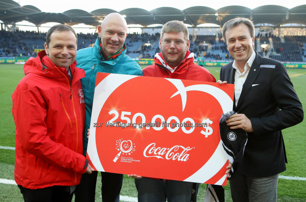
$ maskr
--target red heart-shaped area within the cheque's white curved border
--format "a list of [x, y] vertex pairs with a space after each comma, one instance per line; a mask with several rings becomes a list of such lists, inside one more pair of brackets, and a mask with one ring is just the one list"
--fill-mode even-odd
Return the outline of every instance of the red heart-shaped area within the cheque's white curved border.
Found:
[[[185, 87], [203, 84], [181, 81]], [[186, 92], [184, 106], [184, 96], [173, 96], [176, 92], [177, 87], [169, 80], [160, 78], [156, 82], [155, 78], [149, 77], [132, 78], [115, 88], [98, 116], [97, 123], [103, 123], [103, 126], [95, 128], [97, 153], [105, 171], [185, 180], [210, 159], [220, 142], [219, 130], [212, 131], [212, 128], [218, 128], [222, 107], [214, 96], [196, 90]], [[141, 122], [167, 120], [170, 127], [156, 130], [127, 124], [107, 125], [109, 121], [136, 122], [138, 126]], [[185, 120], [188, 124], [206, 121], [208, 126], [171, 127], [176, 120]], [[114, 162], [121, 146], [122, 153]]]

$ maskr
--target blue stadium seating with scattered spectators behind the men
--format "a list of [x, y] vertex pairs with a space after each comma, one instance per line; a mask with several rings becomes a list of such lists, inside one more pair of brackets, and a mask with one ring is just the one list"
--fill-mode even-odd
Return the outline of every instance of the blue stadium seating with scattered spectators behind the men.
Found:
[[[92, 46], [98, 34], [78, 34], [78, 49]], [[160, 52], [159, 33], [155, 34], [128, 34], [125, 44], [127, 45], [127, 55], [131, 58], [154, 58]], [[260, 44], [270, 44], [273, 42], [273, 54], [268, 54], [272, 59], [283, 62], [303, 62], [306, 61], [306, 37], [305, 36], [285, 36], [282, 40], [272, 35], [257, 36]], [[204, 60], [233, 60], [229, 55], [227, 46], [222, 41], [221, 34], [216, 35], [190, 35], [190, 51], [195, 53], [195, 58], [200, 54]], [[270, 39], [271, 38], [271, 39]], [[45, 33], [30, 31], [0, 31], [0, 56], [12, 57], [36, 56], [34, 49], [44, 49], [46, 40]], [[148, 46], [145, 44], [149, 44]], [[269, 51], [270, 52], [270, 51]], [[262, 52], [259, 54], [266, 56]]]

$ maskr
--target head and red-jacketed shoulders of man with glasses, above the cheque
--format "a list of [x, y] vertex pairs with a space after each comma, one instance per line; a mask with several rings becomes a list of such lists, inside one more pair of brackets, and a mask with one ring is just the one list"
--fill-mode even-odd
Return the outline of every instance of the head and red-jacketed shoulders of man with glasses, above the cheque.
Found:
[[160, 53], [154, 62], [143, 69], [144, 76], [216, 82], [209, 71], [194, 63], [189, 51], [190, 41], [184, 23], [173, 20], [162, 27], [159, 39]]

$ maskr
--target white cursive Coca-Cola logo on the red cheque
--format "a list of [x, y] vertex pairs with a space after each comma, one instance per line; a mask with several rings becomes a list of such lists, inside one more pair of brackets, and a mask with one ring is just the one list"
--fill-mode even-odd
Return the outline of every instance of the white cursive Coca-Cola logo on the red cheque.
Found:
[[187, 161], [189, 159], [189, 154], [187, 153], [192, 148], [175, 145], [171, 148], [157, 147], [155, 142], [149, 144], [144, 149], [144, 157], [156, 157], [167, 160], [177, 160], [177, 161]]

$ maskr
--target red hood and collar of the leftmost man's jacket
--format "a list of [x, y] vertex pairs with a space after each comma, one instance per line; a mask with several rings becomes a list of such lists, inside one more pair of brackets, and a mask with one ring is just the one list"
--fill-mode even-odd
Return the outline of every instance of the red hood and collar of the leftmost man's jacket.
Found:
[[[43, 61], [43, 64], [42, 64]], [[65, 75], [69, 78], [67, 70], [64, 67], [57, 67], [47, 56], [46, 51], [42, 50], [37, 54], [37, 57], [30, 57], [24, 64], [24, 74], [29, 73], [38, 74], [43, 77], [50, 78], [62, 78]], [[82, 69], [76, 67], [76, 61], [70, 65], [73, 80], [80, 80], [80, 78], [85, 77], [85, 72]]]

